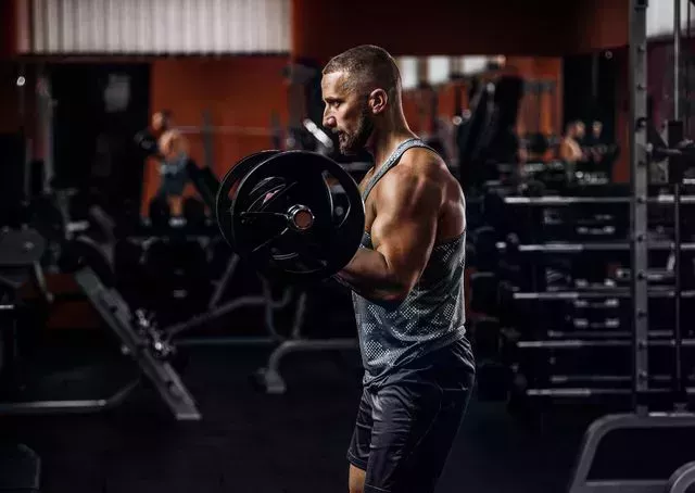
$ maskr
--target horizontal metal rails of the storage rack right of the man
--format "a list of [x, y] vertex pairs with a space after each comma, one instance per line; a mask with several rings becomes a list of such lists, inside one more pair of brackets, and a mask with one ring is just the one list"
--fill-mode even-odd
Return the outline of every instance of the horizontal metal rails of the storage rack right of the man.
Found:
[[[673, 195], [659, 195], [648, 198], [645, 202], [658, 203], [658, 204], [673, 204]], [[695, 203], [695, 197], [683, 198], [684, 203]], [[630, 204], [630, 198], [628, 197], [508, 197], [505, 198], [507, 206], [529, 206], [529, 207], [563, 207], [569, 205], [581, 206], [583, 204]], [[646, 222], [645, 222], [646, 223]], [[646, 228], [645, 228], [646, 230]], [[681, 249], [674, 249], [671, 241], [644, 241], [641, 242], [644, 245], [647, 253], [653, 251], [673, 252], [677, 251], [695, 251], [695, 243], [681, 244]], [[569, 243], [569, 242], [552, 242], [543, 244], [507, 244], [504, 242], [497, 243], [497, 250], [501, 252], [513, 251], [517, 256], [543, 256], [546, 254], [558, 255], [574, 255], [583, 253], [628, 253], [631, 250], [631, 243], [629, 241], [593, 241], [586, 243]], [[680, 253], [680, 252], [679, 252]], [[646, 258], [646, 255], [645, 255]], [[640, 271], [640, 270], [639, 270]], [[670, 273], [668, 271], [654, 271], [642, 269], [644, 273], [639, 276], [639, 281], [644, 281], [646, 285], [653, 280], [668, 279]], [[673, 276], [679, 279], [680, 269], [675, 269]], [[624, 274], [623, 274], [624, 276]], [[630, 275], [624, 276], [627, 278]], [[650, 282], [649, 282], [650, 283]], [[591, 287], [590, 287], [591, 288]], [[594, 290], [574, 289], [574, 290], [555, 290], [545, 292], [523, 292], [515, 290], [511, 292], [510, 298], [515, 304], [530, 302], [563, 302], [569, 306], [582, 308], [589, 311], [589, 307], [594, 311], [602, 311], [604, 313], [618, 312], [621, 305], [629, 303], [629, 300], [633, 296], [633, 289], [605, 287], [597, 286]], [[634, 287], [633, 287], [634, 288]], [[646, 293], [647, 299], [692, 299], [695, 298], [695, 291], [683, 291], [681, 296], [675, 295], [677, 289], [662, 286], [649, 286]], [[646, 304], [644, 304], [646, 306]], [[677, 317], [678, 318], [678, 317]], [[677, 325], [679, 320], [677, 320]], [[620, 330], [620, 323], [617, 316], [605, 317], [603, 323], [596, 323], [590, 319], [573, 319], [572, 330], [551, 329], [547, 330], [542, 340], [520, 340], [517, 342], [517, 347], [522, 351], [527, 350], [546, 350], [553, 352], [561, 352], [567, 354], [572, 350], [592, 347], [597, 351], [599, 349], [611, 347], [624, 347], [629, 349], [632, 344], [630, 342], [631, 331]], [[646, 328], [645, 328], [646, 330]], [[679, 330], [653, 330], [648, 331], [649, 342], [648, 345], [653, 347], [670, 347], [674, 344], [674, 339], [680, 336]], [[695, 336], [695, 334], [693, 334]], [[670, 337], [670, 339], [669, 339]], [[691, 347], [695, 345], [695, 339], [688, 339], [683, 341], [684, 346]], [[529, 388], [526, 390], [526, 394], [530, 396], [543, 396], [543, 397], [585, 397], [592, 395], [627, 395], [630, 396], [633, 393], [633, 389], [624, 387], [626, 383], [630, 383], [631, 378], [621, 375], [584, 375], [580, 378], [578, 375], [555, 375], [548, 378], [548, 383], [558, 384], [558, 388]], [[662, 375], [652, 377], [653, 381], [664, 382], [668, 381]], [[605, 385], [610, 383], [622, 383], [623, 387], [606, 388]], [[567, 388], [567, 384], [577, 384], [579, 387]], [[583, 384], [582, 384], [583, 383]], [[596, 384], [595, 388], [590, 388], [591, 384]], [[691, 390], [692, 392], [693, 390]], [[648, 393], [668, 393], [668, 389], [649, 389]]]

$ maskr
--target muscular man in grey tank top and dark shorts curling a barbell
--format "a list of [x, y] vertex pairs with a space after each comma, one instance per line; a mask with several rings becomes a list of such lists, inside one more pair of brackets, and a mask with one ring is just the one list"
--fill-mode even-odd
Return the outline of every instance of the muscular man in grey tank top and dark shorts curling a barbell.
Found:
[[333, 58], [324, 125], [340, 151], [371, 153], [362, 248], [336, 276], [353, 290], [365, 366], [348, 452], [351, 493], [434, 490], [473, 385], [464, 328], [465, 200], [410, 131], [397, 66], [381, 48]]

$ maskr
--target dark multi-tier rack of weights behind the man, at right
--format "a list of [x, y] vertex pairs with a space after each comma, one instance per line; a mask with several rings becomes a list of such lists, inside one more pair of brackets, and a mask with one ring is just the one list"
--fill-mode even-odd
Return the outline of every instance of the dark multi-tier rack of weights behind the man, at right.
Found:
[[[622, 192], [622, 193], [620, 193]], [[505, 197], [497, 241], [496, 291], [502, 358], [510, 395], [534, 403], [596, 397], [629, 404], [632, 368], [632, 276], [627, 190], [615, 186], [564, 197]], [[695, 361], [695, 239], [683, 199], [681, 327], [684, 361]], [[653, 195], [649, 218], [649, 374], [658, 399], [671, 389], [674, 271], [672, 198]], [[686, 387], [695, 387], [685, 375]], [[658, 401], [657, 401], [658, 402]]]

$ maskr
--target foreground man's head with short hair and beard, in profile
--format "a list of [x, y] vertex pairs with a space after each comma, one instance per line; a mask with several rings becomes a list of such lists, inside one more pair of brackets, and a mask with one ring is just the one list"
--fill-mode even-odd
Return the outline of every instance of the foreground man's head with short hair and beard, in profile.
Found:
[[324, 67], [324, 126], [338, 134], [340, 152], [354, 154], [367, 146], [374, 129], [402, 113], [401, 73], [382, 48], [352, 48]]

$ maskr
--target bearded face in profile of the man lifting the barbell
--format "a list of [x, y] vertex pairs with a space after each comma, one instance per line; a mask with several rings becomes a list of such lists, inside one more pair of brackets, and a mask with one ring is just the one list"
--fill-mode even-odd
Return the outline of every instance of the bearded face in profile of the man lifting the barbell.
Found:
[[366, 97], [345, 88], [344, 72], [326, 74], [321, 79], [324, 126], [338, 135], [340, 152], [356, 154], [365, 148], [374, 130]]

